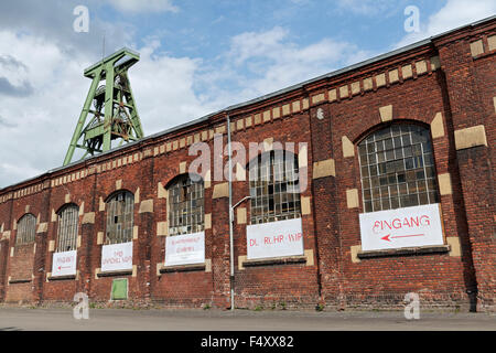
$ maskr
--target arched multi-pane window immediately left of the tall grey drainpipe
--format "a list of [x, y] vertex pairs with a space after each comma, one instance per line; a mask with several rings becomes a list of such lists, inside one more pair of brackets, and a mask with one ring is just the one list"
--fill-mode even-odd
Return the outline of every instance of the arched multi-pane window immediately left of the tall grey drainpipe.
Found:
[[203, 180], [187, 174], [176, 178], [169, 190], [169, 235], [191, 234], [204, 229]]

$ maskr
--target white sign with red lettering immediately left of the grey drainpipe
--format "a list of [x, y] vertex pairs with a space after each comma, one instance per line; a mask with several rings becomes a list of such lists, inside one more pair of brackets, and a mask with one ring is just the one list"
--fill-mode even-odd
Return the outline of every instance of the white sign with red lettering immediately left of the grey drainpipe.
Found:
[[168, 236], [165, 266], [205, 263], [205, 233]]

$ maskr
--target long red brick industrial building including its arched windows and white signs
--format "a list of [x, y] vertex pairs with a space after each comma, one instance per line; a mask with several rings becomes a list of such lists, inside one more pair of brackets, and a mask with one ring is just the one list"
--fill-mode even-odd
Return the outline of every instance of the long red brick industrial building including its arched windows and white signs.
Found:
[[493, 17], [1, 189], [0, 302], [494, 310], [495, 54]]

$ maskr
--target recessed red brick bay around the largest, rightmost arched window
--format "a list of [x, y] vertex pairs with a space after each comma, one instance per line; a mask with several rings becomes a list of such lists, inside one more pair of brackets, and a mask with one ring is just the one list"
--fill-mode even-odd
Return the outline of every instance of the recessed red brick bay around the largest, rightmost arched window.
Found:
[[[338, 229], [341, 238], [343, 296], [348, 304], [369, 306], [373, 302], [399, 303], [409, 291], [421, 292], [421, 300], [466, 301], [465, 288], [472, 286], [472, 271], [466, 266], [467, 278], [464, 277], [464, 264], [460, 257], [445, 255], [421, 255], [414, 257], [391, 257], [363, 259], [352, 264], [351, 246], [360, 244], [358, 213], [363, 212], [362, 196], [359, 207], [347, 208], [346, 190], [360, 190], [360, 173], [358, 159], [343, 158], [342, 136], [347, 136], [355, 147], [369, 131], [386, 126], [379, 116], [379, 108], [392, 105], [393, 120], [419, 121], [428, 126], [438, 111], [443, 117], [449, 116], [443, 101], [442, 88], [438, 83], [438, 73], [419, 76], [417, 79], [396, 83], [390, 87], [379, 88], [375, 94], [365, 94], [352, 99], [331, 104], [331, 125], [333, 130], [333, 148], [337, 174], [335, 178]], [[451, 172], [452, 182], [456, 165], [450, 160], [448, 136], [453, 133], [445, 126], [446, 133], [432, 140], [438, 174]], [[441, 207], [445, 236], [464, 236], [456, 220], [463, 220], [464, 214], [455, 210], [455, 200], [460, 197], [460, 189], [454, 188], [452, 195], [441, 196]], [[462, 231], [462, 232], [460, 232]], [[326, 249], [321, 248], [325, 254]], [[442, 265], [441, 265], [442, 264]], [[370, 276], [370, 274], [374, 274]], [[323, 286], [326, 287], [326, 281]]]

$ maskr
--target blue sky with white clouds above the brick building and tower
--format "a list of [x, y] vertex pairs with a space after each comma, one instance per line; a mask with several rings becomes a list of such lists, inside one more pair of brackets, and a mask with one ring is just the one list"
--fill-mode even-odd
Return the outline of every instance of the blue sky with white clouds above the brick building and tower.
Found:
[[495, 13], [496, 0], [2, 1], [0, 188], [62, 165], [104, 32], [107, 54], [141, 55], [130, 81], [151, 135]]

